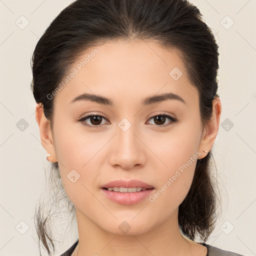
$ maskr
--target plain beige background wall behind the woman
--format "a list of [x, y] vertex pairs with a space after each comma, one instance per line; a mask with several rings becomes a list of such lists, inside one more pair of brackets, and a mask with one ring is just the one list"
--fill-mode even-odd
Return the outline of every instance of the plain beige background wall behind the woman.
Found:
[[[34, 116], [30, 57], [49, 22], [71, 2], [0, 0], [0, 255], [38, 255], [33, 214], [49, 163]], [[222, 115], [212, 152], [223, 213], [207, 243], [256, 255], [256, 0], [191, 2], [214, 30], [220, 47]], [[25, 19], [29, 22], [23, 29], [15, 23], [21, 23], [22, 15], [22, 24]], [[21, 118], [28, 125], [23, 131], [17, 127]], [[226, 130], [231, 122], [234, 126]], [[20, 232], [26, 224], [20, 221], [29, 226], [24, 234]], [[74, 231], [68, 239], [62, 238], [59, 254], [76, 235]]]

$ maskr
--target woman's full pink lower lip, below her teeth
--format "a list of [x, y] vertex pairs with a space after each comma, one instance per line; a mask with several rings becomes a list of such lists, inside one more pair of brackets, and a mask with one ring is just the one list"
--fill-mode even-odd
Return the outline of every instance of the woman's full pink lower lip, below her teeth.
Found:
[[151, 188], [139, 192], [115, 192], [104, 188], [100, 188], [100, 190], [112, 201], [120, 204], [135, 204], [148, 197], [154, 189]]

